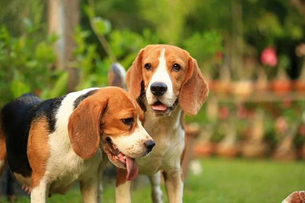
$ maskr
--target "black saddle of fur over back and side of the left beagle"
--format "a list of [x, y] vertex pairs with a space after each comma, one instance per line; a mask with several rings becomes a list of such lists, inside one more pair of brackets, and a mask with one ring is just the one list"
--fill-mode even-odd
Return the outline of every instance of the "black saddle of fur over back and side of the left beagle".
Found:
[[47, 118], [49, 133], [54, 132], [56, 113], [66, 95], [43, 101], [35, 94], [23, 94], [4, 106], [0, 116], [6, 136], [7, 157], [11, 172], [29, 177], [32, 168], [27, 158], [29, 128], [35, 119]]

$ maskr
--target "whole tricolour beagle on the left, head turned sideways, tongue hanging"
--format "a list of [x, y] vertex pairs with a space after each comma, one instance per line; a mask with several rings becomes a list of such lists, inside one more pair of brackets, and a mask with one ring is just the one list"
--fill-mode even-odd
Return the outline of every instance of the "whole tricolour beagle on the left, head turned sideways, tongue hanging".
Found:
[[14, 177], [32, 189], [31, 202], [65, 194], [76, 180], [83, 201], [98, 202], [108, 159], [127, 169], [126, 179], [132, 180], [138, 174], [135, 158], [155, 146], [143, 119], [137, 101], [118, 87], [48, 100], [24, 94], [0, 114], [0, 172], [9, 165]]

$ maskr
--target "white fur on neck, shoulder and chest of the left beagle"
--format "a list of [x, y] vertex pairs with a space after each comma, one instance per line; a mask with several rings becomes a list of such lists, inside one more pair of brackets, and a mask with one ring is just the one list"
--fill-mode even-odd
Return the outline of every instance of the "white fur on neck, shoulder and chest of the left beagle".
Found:
[[[57, 111], [55, 131], [49, 135], [50, 157], [44, 177], [46, 181], [53, 182], [50, 192], [65, 193], [83, 173], [96, 171], [101, 163], [100, 149], [95, 156], [86, 160], [75, 154], [68, 134], [69, 116], [73, 112], [75, 99], [95, 89], [99, 88], [89, 88], [67, 94]], [[97, 175], [97, 173], [90, 174], [90, 176]]]

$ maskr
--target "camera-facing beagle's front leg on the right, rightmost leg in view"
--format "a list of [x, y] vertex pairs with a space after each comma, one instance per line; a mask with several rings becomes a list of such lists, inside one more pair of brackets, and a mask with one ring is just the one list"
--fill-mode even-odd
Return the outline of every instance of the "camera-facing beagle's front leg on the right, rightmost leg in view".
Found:
[[181, 168], [164, 170], [165, 188], [170, 203], [182, 202], [183, 182]]

